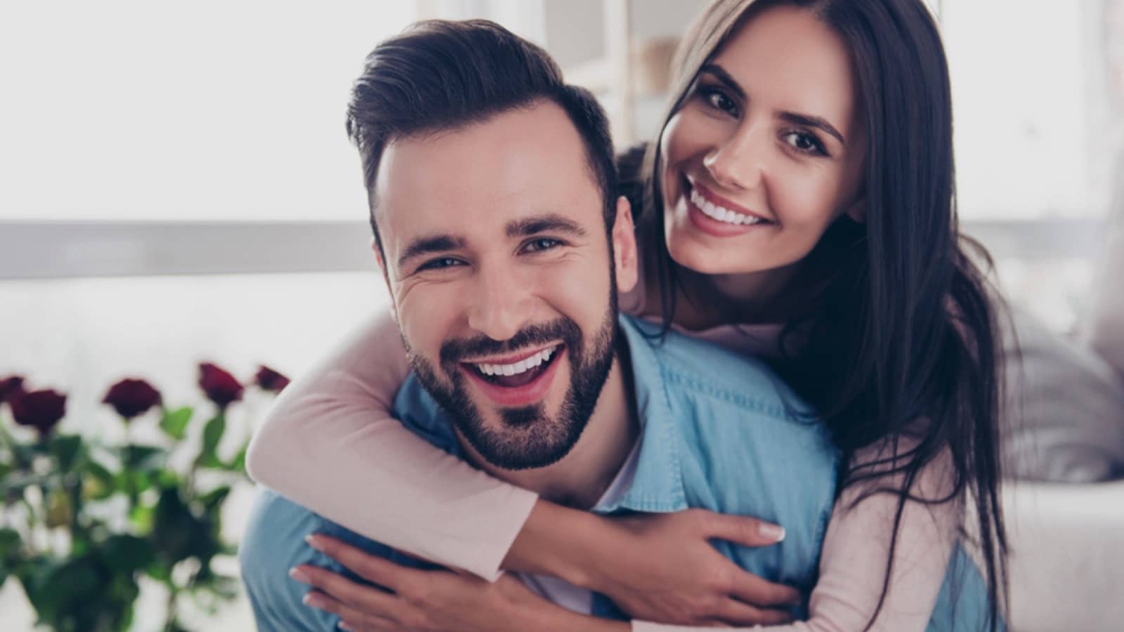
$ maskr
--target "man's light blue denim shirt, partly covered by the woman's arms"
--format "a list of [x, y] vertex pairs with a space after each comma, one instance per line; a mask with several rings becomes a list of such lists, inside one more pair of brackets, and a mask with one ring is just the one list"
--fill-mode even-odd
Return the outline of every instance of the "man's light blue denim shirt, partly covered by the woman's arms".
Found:
[[[761, 361], [710, 343], [620, 317], [641, 423], [636, 469], [627, 489], [598, 513], [678, 512], [701, 507], [760, 517], [785, 526], [783, 542], [759, 549], [717, 542], [718, 550], [745, 570], [799, 588], [816, 583], [819, 550], [835, 495], [839, 454], [822, 424]], [[410, 378], [395, 400], [395, 415], [434, 445], [462, 455], [451, 423], [420, 383]], [[361, 502], [356, 499], [356, 502]], [[373, 554], [419, 566], [263, 489], [239, 554], [259, 630], [333, 630], [338, 617], [301, 603], [307, 586], [288, 570], [315, 563], [361, 579], [303, 542], [324, 532]], [[979, 629], [986, 592], [976, 567], [958, 548], [942, 589], [932, 632]], [[959, 586], [958, 595], [953, 587]], [[952, 597], [959, 597], [955, 611]], [[600, 604], [600, 605], [599, 605]], [[804, 614], [801, 608], [800, 614]], [[605, 599], [595, 614], [618, 615]]]

